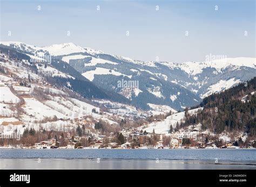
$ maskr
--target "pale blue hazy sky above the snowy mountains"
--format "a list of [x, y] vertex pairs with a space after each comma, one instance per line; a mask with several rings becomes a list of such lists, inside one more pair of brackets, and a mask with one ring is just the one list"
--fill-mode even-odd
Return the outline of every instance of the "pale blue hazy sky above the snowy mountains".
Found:
[[0, 41], [73, 42], [143, 61], [255, 57], [254, 0], [0, 0]]

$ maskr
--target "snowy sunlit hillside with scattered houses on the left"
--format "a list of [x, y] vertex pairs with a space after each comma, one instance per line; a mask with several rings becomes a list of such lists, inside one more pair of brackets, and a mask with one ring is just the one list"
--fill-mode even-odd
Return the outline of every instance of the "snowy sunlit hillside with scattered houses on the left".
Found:
[[68, 86], [52, 85], [45, 76], [74, 78], [50, 65], [31, 66], [6, 54], [0, 57], [0, 134], [22, 134], [26, 128], [69, 132], [78, 125], [85, 125], [87, 133], [98, 134], [95, 123], [99, 120], [118, 129], [121, 119], [150, 115], [110, 100], [88, 100]]

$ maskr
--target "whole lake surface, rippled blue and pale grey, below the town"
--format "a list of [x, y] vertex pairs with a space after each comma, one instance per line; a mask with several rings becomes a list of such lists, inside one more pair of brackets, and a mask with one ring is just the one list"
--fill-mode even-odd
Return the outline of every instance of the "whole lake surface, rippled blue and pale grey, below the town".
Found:
[[0, 169], [256, 169], [256, 149], [0, 149]]

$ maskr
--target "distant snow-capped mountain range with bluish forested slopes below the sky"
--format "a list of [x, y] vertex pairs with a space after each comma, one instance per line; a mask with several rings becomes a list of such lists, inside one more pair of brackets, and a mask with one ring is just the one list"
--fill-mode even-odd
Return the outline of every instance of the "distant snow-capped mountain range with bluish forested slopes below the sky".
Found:
[[[256, 60], [252, 57], [206, 62], [154, 62], [106, 54], [72, 43], [48, 47], [21, 42], [1, 44], [29, 55], [51, 55], [52, 59], [65, 62], [98, 87], [119, 93], [143, 109], [150, 109], [149, 104], [184, 109], [199, 104], [211, 93], [247, 81], [256, 74]], [[129, 81], [138, 81], [138, 87], [118, 87], [118, 82]]]

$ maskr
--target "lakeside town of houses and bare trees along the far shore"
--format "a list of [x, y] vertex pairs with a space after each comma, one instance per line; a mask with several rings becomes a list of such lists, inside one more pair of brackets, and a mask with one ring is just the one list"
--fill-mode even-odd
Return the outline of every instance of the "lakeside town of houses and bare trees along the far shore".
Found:
[[[106, 135], [83, 135], [83, 126], [77, 127], [76, 134], [62, 133], [51, 134], [45, 140], [35, 142], [35, 130], [26, 130], [21, 139], [16, 140], [16, 145], [11, 145], [11, 139], [2, 139], [8, 145], [0, 148], [25, 148], [25, 149], [254, 149], [256, 140], [245, 140], [237, 136], [233, 141], [224, 141], [216, 136], [202, 133], [199, 128], [190, 130], [181, 129], [169, 134], [157, 134], [138, 130], [138, 128], [122, 128], [122, 131]], [[65, 135], [64, 135], [65, 134]], [[38, 135], [37, 135], [38, 136]], [[40, 137], [42, 138], [42, 136]]]

